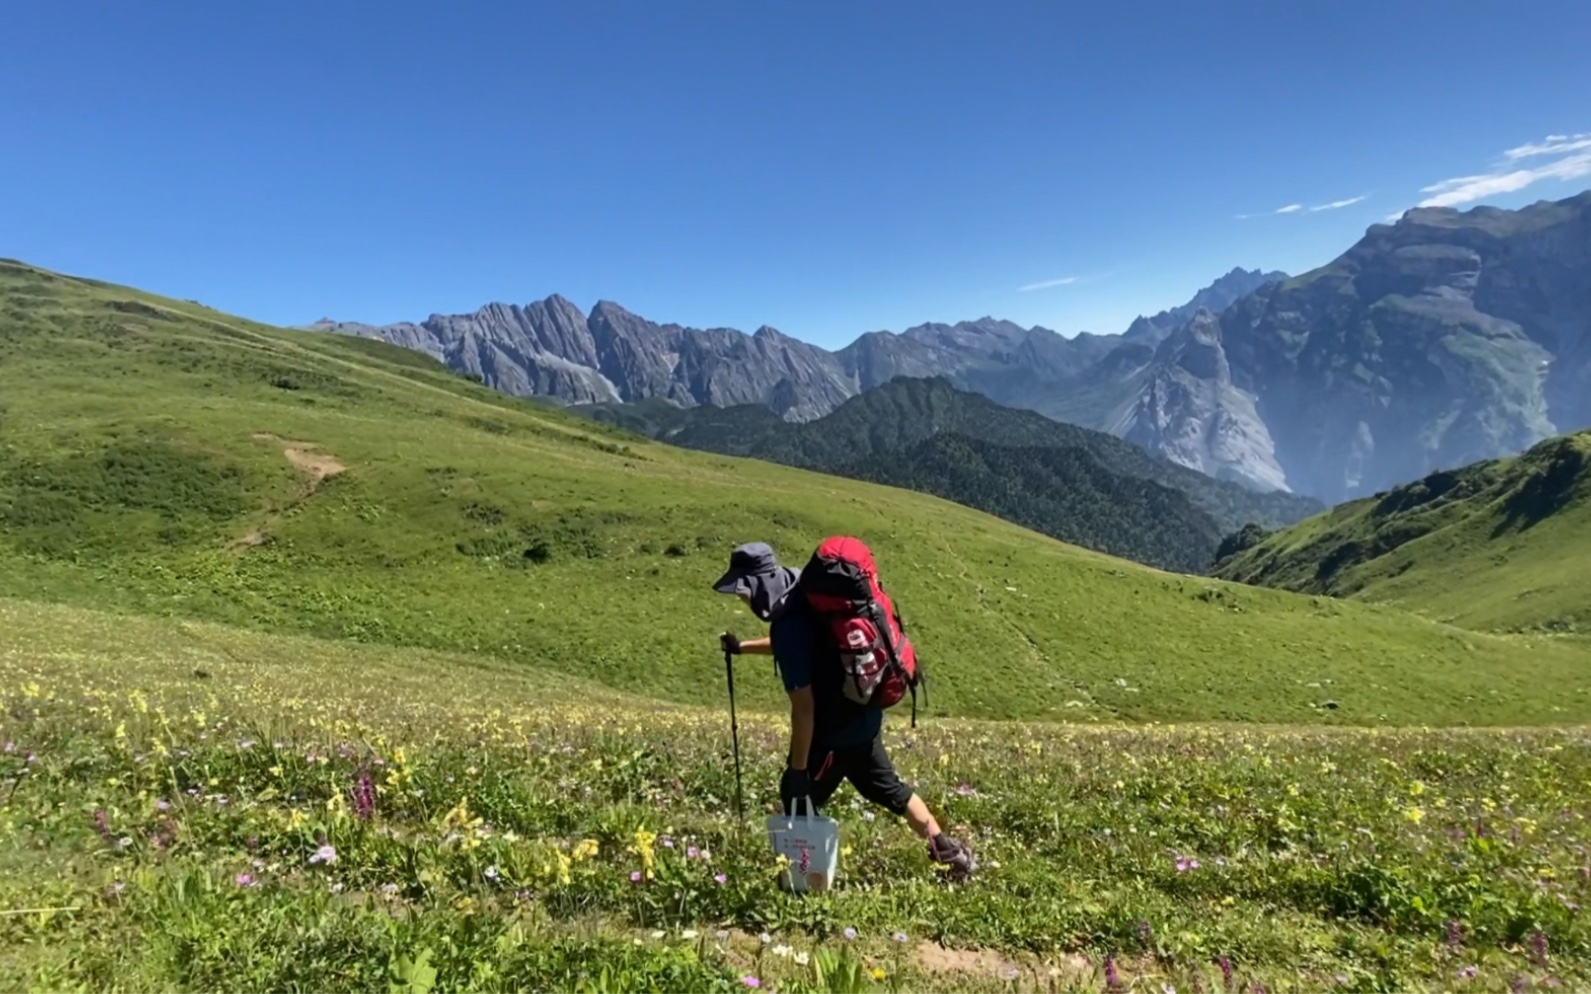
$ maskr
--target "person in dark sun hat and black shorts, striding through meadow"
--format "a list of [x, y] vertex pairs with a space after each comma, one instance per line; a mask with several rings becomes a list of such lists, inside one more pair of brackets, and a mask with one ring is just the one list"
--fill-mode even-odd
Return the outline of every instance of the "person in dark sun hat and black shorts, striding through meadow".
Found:
[[940, 832], [923, 798], [901, 782], [883, 744], [883, 708], [858, 705], [845, 695], [838, 647], [823, 615], [802, 596], [799, 582], [799, 569], [780, 565], [765, 542], [751, 542], [733, 550], [729, 571], [713, 584], [713, 590], [740, 596], [768, 622], [767, 638], [741, 641], [725, 631], [721, 641], [730, 655], [773, 655], [791, 698], [781, 808], [789, 813], [799, 798], [810, 798], [821, 810], [840, 781], [850, 779], [866, 800], [905, 817], [928, 841], [929, 859], [964, 879], [977, 868], [972, 852]]

